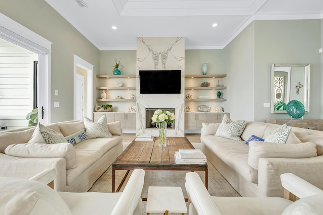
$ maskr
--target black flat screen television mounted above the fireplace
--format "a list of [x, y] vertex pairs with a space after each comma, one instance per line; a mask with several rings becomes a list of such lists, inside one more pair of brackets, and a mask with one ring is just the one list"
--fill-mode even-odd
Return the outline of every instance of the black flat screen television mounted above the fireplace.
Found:
[[181, 70], [139, 70], [140, 94], [180, 94]]

